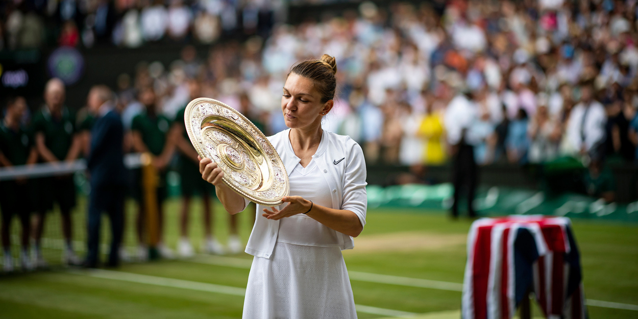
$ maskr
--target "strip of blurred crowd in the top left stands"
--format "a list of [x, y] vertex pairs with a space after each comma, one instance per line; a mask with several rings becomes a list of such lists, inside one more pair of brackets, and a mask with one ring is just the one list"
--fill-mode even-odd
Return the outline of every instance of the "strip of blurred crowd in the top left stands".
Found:
[[221, 34], [267, 36], [285, 1], [16, 0], [0, 3], [0, 50], [51, 45], [91, 48], [195, 41]]

